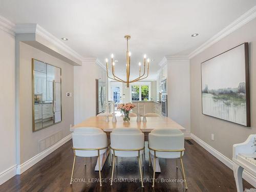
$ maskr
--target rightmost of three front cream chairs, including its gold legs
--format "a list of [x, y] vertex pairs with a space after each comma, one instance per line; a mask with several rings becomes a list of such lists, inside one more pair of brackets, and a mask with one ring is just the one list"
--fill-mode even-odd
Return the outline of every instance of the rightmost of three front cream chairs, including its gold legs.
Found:
[[182, 177], [184, 179], [185, 188], [187, 189], [186, 176], [182, 156], [184, 154], [184, 134], [177, 129], [162, 128], [155, 129], [148, 134], [148, 148], [150, 149], [150, 161], [154, 156], [154, 174], [153, 185], [155, 186], [156, 158], [176, 159], [176, 167], [178, 168], [178, 158], [180, 158]]

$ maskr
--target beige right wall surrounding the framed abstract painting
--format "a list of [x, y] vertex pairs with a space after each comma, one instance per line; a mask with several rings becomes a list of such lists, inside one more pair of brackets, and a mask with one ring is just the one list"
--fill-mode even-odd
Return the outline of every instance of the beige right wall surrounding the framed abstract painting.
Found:
[[[251, 127], [202, 115], [201, 111], [201, 62], [243, 42], [249, 42]], [[231, 159], [232, 145], [256, 133], [256, 19], [190, 59], [190, 93], [191, 133]], [[214, 141], [211, 134], [215, 134]]]

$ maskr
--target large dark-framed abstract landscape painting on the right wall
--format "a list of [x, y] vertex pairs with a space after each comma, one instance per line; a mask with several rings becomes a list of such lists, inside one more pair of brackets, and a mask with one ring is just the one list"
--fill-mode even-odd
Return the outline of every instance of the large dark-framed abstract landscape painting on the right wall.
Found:
[[202, 114], [250, 126], [248, 42], [201, 63]]

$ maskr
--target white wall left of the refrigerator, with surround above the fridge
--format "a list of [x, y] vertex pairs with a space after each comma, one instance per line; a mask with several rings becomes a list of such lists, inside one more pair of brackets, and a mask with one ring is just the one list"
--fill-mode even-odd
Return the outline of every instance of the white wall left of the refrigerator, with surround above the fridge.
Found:
[[[74, 67], [74, 120], [75, 124], [96, 115], [96, 79], [108, 80], [104, 69], [96, 65], [96, 59]], [[108, 100], [108, 89], [106, 89]]]

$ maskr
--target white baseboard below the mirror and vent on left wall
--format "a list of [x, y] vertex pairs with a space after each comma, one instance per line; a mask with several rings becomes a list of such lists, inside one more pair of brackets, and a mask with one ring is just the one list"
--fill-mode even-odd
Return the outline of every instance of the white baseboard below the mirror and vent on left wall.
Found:
[[54, 145], [47, 148], [47, 150], [37, 154], [36, 156], [32, 157], [28, 161], [24, 162], [21, 165], [17, 165], [17, 175], [20, 175], [24, 173], [26, 170], [28, 170], [30, 167], [32, 167], [34, 164], [39, 162], [40, 160], [44, 159], [46, 156], [57, 150], [58, 147], [68, 142], [70, 139], [72, 139], [72, 134], [68, 135], [67, 137], [61, 139], [59, 142], [55, 143]]

